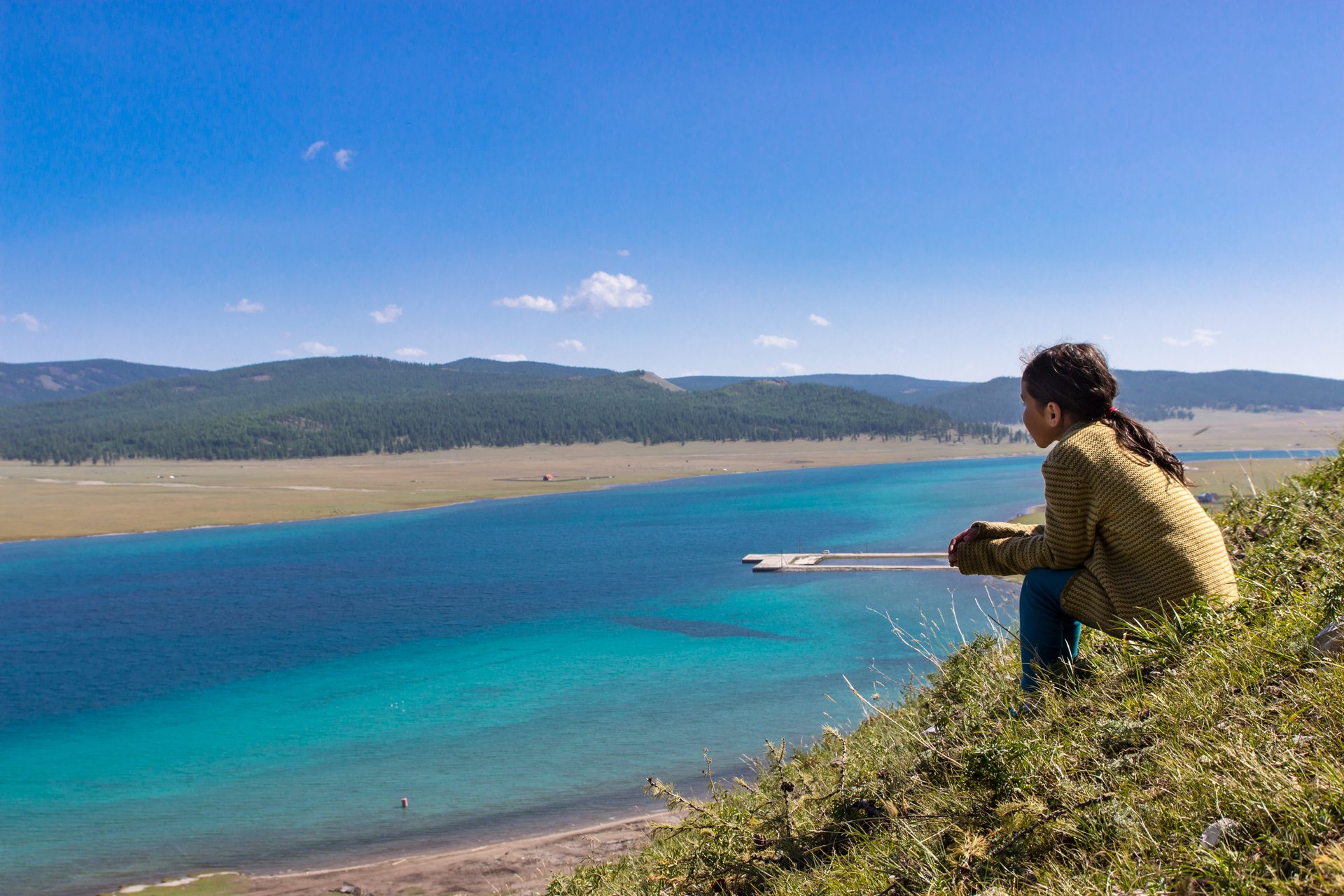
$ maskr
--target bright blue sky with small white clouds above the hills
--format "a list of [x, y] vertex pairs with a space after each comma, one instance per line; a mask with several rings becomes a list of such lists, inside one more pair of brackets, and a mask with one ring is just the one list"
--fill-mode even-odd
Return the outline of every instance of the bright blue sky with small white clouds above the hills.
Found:
[[1344, 377], [1341, 4], [0, 9], [0, 360]]

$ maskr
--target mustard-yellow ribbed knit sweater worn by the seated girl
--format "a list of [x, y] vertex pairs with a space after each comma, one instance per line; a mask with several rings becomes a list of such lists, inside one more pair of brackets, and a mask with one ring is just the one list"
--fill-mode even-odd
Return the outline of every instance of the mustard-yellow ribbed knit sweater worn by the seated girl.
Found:
[[957, 545], [964, 575], [1082, 571], [1060, 606], [1111, 634], [1195, 594], [1236, 598], [1223, 533], [1189, 490], [1121, 447], [1103, 422], [1071, 426], [1040, 465], [1046, 525], [984, 523]]

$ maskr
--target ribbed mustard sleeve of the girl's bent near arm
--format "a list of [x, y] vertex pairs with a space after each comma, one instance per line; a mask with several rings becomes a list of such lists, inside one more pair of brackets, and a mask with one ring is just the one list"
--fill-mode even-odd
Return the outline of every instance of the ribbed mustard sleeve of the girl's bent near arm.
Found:
[[1040, 472], [1046, 478], [1044, 528], [958, 545], [957, 568], [962, 575], [1023, 575], [1036, 568], [1077, 570], [1083, 564], [1097, 540], [1087, 484], [1060, 463], [1046, 461]]

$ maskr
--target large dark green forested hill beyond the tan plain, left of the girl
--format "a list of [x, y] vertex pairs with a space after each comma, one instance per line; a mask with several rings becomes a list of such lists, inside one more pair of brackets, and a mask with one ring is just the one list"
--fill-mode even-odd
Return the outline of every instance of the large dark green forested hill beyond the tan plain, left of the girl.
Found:
[[[500, 368], [503, 367], [503, 369]], [[128, 457], [286, 458], [469, 445], [699, 439], [1012, 438], [942, 411], [810, 383], [737, 383], [673, 392], [641, 372], [465, 359], [376, 357], [257, 364], [145, 380], [69, 402], [0, 410], [0, 457], [110, 462]]]

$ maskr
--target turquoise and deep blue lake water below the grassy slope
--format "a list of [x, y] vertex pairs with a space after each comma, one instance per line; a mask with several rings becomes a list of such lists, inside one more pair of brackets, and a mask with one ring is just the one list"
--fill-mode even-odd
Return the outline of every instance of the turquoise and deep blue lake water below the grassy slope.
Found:
[[590, 823], [655, 807], [650, 775], [699, 786], [703, 750], [742, 774], [767, 739], [856, 724], [841, 676], [895, 693], [927, 672], [879, 613], [918, 630], [952, 590], [968, 634], [988, 627], [984, 580], [754, 575], [742, 555], [937, 551], [1039, 502], [1039, 466], [0, 545], [0, 892]]

